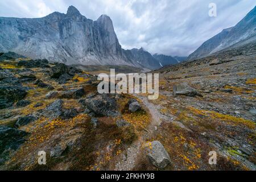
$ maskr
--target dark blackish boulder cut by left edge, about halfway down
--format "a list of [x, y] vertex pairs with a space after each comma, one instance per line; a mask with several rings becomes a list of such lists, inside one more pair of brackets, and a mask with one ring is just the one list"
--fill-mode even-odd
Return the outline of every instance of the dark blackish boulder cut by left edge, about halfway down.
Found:
[[[22, 86], [14, 86], [9, 84], [0, 85], [0, 100], [5, 103], [13, 103], [26, 97], [27, 92]], [[6, 104], [2, 104], [0, 109], [5, 108]]]

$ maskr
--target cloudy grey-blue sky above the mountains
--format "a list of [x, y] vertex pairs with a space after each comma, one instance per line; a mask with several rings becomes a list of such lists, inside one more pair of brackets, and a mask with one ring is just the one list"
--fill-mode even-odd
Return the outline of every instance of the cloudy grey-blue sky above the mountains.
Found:
[[[215, 3], [217, 16], [209, 16]], [[235, 26], [255, 0], [0, 0], [0, 16], [40, 18], [75, 6], [86, 18], [102, 14], [113, 21], [122, 48], [188, 56], [202, 43]]]

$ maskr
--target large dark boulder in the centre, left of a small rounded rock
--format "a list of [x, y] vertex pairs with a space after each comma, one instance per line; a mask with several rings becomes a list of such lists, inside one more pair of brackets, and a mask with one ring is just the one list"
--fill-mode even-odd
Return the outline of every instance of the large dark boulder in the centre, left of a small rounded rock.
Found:
[[94, 98], [88, 98], [85, 101], [86, 107], [98, 115], [105, 115], [109, 117], [117, 117], [119, 115], [117, 109], [117, 103], [113, 98], [108, 96], [97, 96]]

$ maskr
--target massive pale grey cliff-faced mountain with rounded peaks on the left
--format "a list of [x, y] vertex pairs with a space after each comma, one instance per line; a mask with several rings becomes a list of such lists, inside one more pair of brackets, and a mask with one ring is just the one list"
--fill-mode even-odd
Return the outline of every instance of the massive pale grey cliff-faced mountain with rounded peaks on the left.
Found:
[[121, 48], [109, 16], [94, 21], [74, 6], [69, 6], [67, 14], [54, 12], [43, 18], [0, 17], [0, 52], [8, 51], [68, 65], [160, 68], [147, 52]]

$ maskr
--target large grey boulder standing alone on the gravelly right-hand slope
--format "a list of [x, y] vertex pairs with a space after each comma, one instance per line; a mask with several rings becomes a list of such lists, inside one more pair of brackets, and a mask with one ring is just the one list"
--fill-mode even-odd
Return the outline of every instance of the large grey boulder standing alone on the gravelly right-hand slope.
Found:
[[191, 86], [182, 83], [174, 85], [174, 96], [176, 95], [185, 95], [189, 97], [200, 96], [203, 97], [196, 89], [192, 88]]

